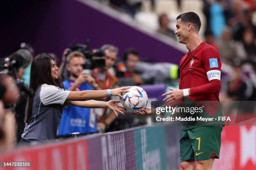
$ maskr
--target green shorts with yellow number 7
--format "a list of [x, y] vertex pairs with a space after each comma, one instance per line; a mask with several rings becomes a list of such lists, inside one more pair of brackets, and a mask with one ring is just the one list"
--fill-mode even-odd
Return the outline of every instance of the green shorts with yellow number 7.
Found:
[[219, 158], [223, 126], [201, 126], [182, 130], [179, 141], [180, 160], [208, 160]]

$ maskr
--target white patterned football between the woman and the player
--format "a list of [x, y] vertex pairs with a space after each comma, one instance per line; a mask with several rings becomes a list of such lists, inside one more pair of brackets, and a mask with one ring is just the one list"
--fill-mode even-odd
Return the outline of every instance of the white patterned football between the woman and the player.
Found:
[[121, 102], [123, 107], [129, 112], [135, 110], [142, 110], [148, 103], [148, 95], [143, 88], [138, 86], [131, 86], [129, 92], [123, 94]]

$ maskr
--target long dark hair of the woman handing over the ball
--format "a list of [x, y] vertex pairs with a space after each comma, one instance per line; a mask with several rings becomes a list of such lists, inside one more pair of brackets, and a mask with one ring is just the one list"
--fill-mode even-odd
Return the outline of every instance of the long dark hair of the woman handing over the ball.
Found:
[[[57, 87], [63, 88], [63, 83], [60, 78], [58, 78], [58, 80], [54, 80], [51, 77], [51, 60], [53, 60], [51, 55], [42, 54], [37, 56], [32, 61], [29, 88], [33, 90], [33, 92], [36, 92], [38, 87], [43, 84], [55, 85]], [[28, 98], [28, 107], [26, 111], [25, 122], [28, 122], [29, 118], [32, 115], [33, 99], [34, 95]]]

